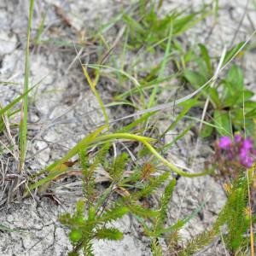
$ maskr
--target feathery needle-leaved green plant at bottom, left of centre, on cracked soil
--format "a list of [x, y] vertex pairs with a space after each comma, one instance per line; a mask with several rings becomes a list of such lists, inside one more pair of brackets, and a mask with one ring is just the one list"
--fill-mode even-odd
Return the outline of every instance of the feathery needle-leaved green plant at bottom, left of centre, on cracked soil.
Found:
[[[151, 215], [149, 210], [143, 210], [143, 207], [139, 207], [131, 201], [113, 201], [112, 195], [115, 189], [125, 188], [128, 181], [132, 181], [132, 178], [125, 179], [123, 175], [128, 155], [120, 154], [112, 163], [108, 162], [105, 160], [108, 148], [109, 144], [103, 145], [93, 160], [90, 161], [90, 164], [84, 150], [79, 151], [79, 162], [83, 173], [84, 201], [78, 201], [73, 215], [67, 213], [60, 217], [61, 223], [71, 229], [69, 238], [73, 243], [73, 251], [69, 255], [79, 255], [80, 249], [83, 249], [84, 255], [93, 255], [93, 239], [121, 239], [123, 237], [122, 232], [112, 226], [108, 227], [108, 224], [117, 218], [122, 218], [128, 212], [137, 212], [144, 217]], [[110, 184], [102, 195], [95, 193], [96, 168], [99, 166], [104, 166], [110, 177]]]

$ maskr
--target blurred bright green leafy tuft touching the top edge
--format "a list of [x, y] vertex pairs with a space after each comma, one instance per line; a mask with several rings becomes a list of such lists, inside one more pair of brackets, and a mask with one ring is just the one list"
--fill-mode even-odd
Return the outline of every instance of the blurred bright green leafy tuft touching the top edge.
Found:
[[143, 46], [154, 49], [157, 45], [166, 49], [170, 30], [173, 37], [177, 37], [208, 15], [205, 9], [201, 9], [200, 12], [189, 15], [184, 11], [172, 11], [171, 14], [160, 18], [158, 14], [160, 6], [156, 8], [156, 3], [147, 4], [147, 2], [139, 1], [137, 11], [131, 15], [124, 15], [129, 29], [128, 44], [132, 49]]

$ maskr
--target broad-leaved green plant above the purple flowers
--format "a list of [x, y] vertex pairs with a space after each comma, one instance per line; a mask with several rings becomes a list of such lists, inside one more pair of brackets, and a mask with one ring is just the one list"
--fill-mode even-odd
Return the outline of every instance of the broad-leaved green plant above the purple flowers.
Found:
[[[242, 43], [241, 43], [242, 44]], [[241, 44], [230, 49], [224, 58], [224, 65], [234, 54]], [[197, 70], [186, 68], [183, 72], [184, 78], [195, 89], [205, 84], [213, 75], [212, 59], [205, 45], [199, 44], [200, 55], [191, 57], [195, 60]], [[252, 100], [254, 93], [247, 90], [244, 85], [243, 73], [236, 64], [231, 65], [228, 73], [223, 79], [210, 84], [201, 91], [198, 103], [207, 109], [207, 123], [201, 132], [201, 136], [207, 137], [212, 134], [213, 128], [221, 136], [230, 136], [233, 131], [247, 129], [247, 135], [253, 136], [255, 125], [253, 119], [256, 117], [256, 102]], [[204, 101], [208, 101], [209, 105]]]

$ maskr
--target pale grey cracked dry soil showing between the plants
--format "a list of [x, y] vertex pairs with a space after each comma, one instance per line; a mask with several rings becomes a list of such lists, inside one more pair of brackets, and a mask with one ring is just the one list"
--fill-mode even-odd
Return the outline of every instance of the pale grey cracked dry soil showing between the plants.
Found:
[[[173, 8], [180, 8], [183, 3], [188, 9], [199, 9], [207, 1], [164, 1], [163, 12], [168, 13]], [[127, 3], [126, 3], [127, 4]], [[213, 24], [208, 17], [203, 26], [195, 26], [187, 32], [191, 44], [203, 43], [209, 46], [212, 55], [221, 52], [224, 45], [236, 44], [253, 32], [256, 26], [256, 12], [251, 1], [219, 1], [219, 17]], [[37, 90], [30, 95], [29, 107], [29, 144], [27, 152], [27, 172], [36, 172], [56, 160], [73, 147], [96, 125], [103, 122], [102, 113], [98, 110], [95, 97], [84, 82], [79, 62], [75, 60], [76, 53], [72, 42], [78, 41], [78, 32], [96, 29], [102, 22], [108, 21], [119, 10], [126, 8], [125, 1], [94, 0], [94, 1], [35, 1], [32, 34], [35, 32], [45, 13], [44, 32], [42, 38], [48, 44], [32, 45], [31, 53], [31, 84], [40, 82]], [[0, 102], [4, 105], [18, 96], [23, 83], [24, 49], [26, 47], [26, 22], [29, 8], [27, 0], [0, 0], [0, 80], [15, 84], [0, 84]], [[71, 26], [65, 24], [61, 12], [67, 14]], [[66, 20], [67, 21], [67, 20]], [[240, 26], [241, 24], [241, 26]], [[114, 37], [114, 36], [113, 36]], [[49, 39], [63, 40], [68, 44], [50, 44]], [[47, 41], [48, 40], [48, 41]], [[113, 41], [113, 38], [109, 38]], [[94, 63], [98, 45], [86, 44], [81, 54], [81, 60]], [[255, 52], [248, 52], [241, 65], [245, 71], [248, 88], [256, 92], [255, 82]], [[111, 92], [115, 84], [112, 81], [101, 80], [103, 101], [111, 101]], [[109, 114], [113, 114], [109, 111]], [[19, 122], [19, 115], [12, 120]], [[169, 123], [164, 120], [158, 124], [163, 131]], [[182, 131], [183, 124], [177, 126], [177, 132]], [[12, 134], [13, 140], [17, 136]], [[177, 165], [187, 166], [199, 172], [203, 163], [212, 154], [212, 149], [206, 142], [197, 141], [195, 133], [190, 131], [183, 140], [170, 150], [167, 157]], [[0, 137], [4, 143], [7, 135]], [[166, 137], [166, 143], [172, 140], [172, 135]], [[195, 148], [191, 152], [190, 148]], [[14, 156], [8, 153], [0, 156], [1, 173], [3, 177], [9, 173], [9, 167], [15, 170]], [[196, 159], [196, 161], [195, 161]], [[6, 184], [6, 183], [5, 183]], [[67, 239], [67, 230], [61, 226], [57, 217], [61, 212], [71, 211], [73, 203], [81, 196], [79, 181], [58, 185], [54, 190], [60, 204], [47, 197], [30, 198], [9, 204], [8, 189], [1, 185], [0, 223], [0, 255], [67, 255], [71, 244]], [[188, 179], [181, 177], [173, 195], [168, 213], [169, 224], [177, 218], [188, 216], [201, 202], [206, 206], [200, 215], [193, 218], [181, 230], [184, 241], [207, 229], [224, 205], [225, 195], [221, 186], [212, 177]], [[124, 239], [119, 242], [95, 241], [96, 256], [103, 255], [151, 255], [149, 241], [143, 236], [137, 221], [125, 217], [117, 221], [115, 226], [124, 231]], [[160, 241], [166, 252], [165, 241]], [[167, 255], [167, 252], [166, 252]], [[224, 247], [218, 239], [197, 255], [225, 255]]]

